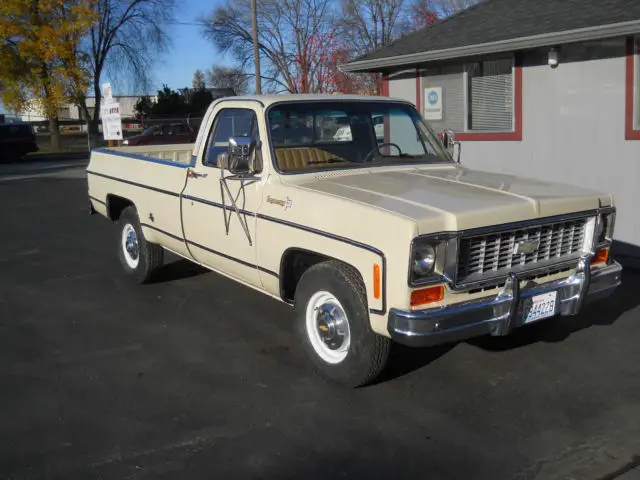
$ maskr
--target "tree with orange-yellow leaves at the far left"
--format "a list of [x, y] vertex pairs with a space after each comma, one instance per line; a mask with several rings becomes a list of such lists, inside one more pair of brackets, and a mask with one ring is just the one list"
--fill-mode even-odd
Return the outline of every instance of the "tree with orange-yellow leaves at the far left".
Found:
[[93, 23], [90, 0], [0, 2], [0, 96], [17, 111], [35, 104], [59, 147], [58, 109], [77, 103], [89, 81], [82, 37]]

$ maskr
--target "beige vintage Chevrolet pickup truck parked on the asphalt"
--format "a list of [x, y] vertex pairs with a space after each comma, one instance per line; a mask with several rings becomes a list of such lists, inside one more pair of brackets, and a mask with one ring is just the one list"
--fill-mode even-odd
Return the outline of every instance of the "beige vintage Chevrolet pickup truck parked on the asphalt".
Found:
[[137, 282], [168, 250], [288, 303], [315, 367], [358, 386], [392, 341], [507, 335], [621, 282], [612, 195], [471, 170], [456, 145], [403, 100], [226, 98], [194, 144], [93, 150], [90, 208]]

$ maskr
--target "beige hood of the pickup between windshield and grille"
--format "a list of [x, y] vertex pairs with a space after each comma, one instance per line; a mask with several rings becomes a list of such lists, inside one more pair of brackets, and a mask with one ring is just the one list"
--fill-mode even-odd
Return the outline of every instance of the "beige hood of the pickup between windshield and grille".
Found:
[[612, 204], [610, 195], [581, 187], [458, 165], [336, 173], [316, 174], [298, 185], [412, 218], [420, 234], [533, 220]]

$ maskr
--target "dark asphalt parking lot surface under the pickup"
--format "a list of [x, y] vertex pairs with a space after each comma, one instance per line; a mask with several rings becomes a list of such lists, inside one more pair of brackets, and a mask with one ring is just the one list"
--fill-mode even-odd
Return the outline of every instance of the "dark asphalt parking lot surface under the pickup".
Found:
[[0, 478], [640, 476], [640, 273], [345, 390], [266, 296], [171, 256], [131, 286], [82, 169], [40, 167], [0, 172]]

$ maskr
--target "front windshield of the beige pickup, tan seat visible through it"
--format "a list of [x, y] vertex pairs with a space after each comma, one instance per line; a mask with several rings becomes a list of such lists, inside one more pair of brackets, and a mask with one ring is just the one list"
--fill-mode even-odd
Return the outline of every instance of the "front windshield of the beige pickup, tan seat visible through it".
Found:
[[453, 162], [417, 110], [401, 102], [283, 102], [267, 117], [282, 172]]

